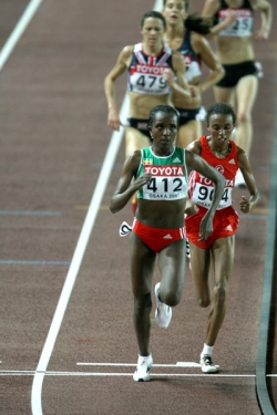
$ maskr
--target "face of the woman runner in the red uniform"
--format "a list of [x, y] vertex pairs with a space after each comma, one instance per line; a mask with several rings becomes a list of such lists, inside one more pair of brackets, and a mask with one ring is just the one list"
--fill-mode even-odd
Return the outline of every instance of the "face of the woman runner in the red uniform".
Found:
[[230, 114], [212, 114], [207, 125], [213, 143], [220, 146], [228, 143], [234, 127]]

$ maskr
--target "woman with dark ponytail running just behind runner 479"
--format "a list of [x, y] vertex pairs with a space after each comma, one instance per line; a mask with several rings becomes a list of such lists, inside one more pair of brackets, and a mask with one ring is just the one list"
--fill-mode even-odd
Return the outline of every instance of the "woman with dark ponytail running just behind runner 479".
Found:
[[[177, 143], [183, 148], [202, 135], [202, 121], [205, 120], [202, 93], [215, 85], [225, 73], [205, 39], [211, 35], [211, 19], [204, 19], [197, 13], [187, 15], [188, 6], [188, 0], [163, 0], [163, 14], [166, 20], [164, 42], [182, 53], [186, 65], [186, 80], [195, 85], [199, 93], [191, 103], [173, 93], [173, 104], [181, 115]], [[232, 17], [222, 22], [220, 28], [227, 27]], [[202, 80], [202, 63], [209, 69], [205, 80]]]

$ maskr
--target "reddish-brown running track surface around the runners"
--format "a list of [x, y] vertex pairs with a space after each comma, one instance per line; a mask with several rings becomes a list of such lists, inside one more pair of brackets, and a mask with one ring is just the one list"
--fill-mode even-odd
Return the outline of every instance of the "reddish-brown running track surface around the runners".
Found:
[[[195, 0], [192, 11], [202, 3]], [[25, 4], [1, 2], [2, 44]], [[0, 72], [0, 414], [32, 413], [33, 374], [111, 137], [103, 77], [123, 45], [140, 41], [140, 18], [152, 7], [146, 0], [44, 0]], [[275, 2], [273, 7], [276, 14]], [[276, 34], [277, 28], [268, 42], [256, 45], [265, 77], [254, 111], [250, 159], [261, 201], [253, 215], [242, 217], [237, 234], [227, 317], [215, 347], [219, 375], [203, 375], [198, 367], [153, 367], [153, 381], [137, 384], [133, 366], [101, 365], [134, 365], [137, 359], [129, 241], [117, 234], [132, 214], [125, 208], [113, 216], [107, 209], [124, 159], [122, 143], [50, 353], [42, 384], [44, 415], [260, 414], [255, 364], [276, 110]], [[120, 102], [125, 79], [116, 92]], [[204, 103], [211, 102], [208, 93]], [[243, 194], [235, 190], [235, 206]], [[198, 362], [206, 323], [207, 310], [194, 300], [187, 269], [171, 326], [161, 331], [153, 323], [154, 363]], [[271, 385], [277, 395], [274, 378]]]

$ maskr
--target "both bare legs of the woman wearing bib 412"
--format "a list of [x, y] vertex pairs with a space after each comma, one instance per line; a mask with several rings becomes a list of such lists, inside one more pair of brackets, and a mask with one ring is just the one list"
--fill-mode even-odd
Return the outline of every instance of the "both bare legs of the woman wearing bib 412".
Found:
[[[185, 277], [185, 241], [177, 240], [160, 255], [161, 300], [176, 305], [182, 297]], [[134, 234], [130, 234], [131, 279], [134, 295], [134, 330], [141, 356], [148, 356], [152, 310], [152, 280], [156, 255]]]

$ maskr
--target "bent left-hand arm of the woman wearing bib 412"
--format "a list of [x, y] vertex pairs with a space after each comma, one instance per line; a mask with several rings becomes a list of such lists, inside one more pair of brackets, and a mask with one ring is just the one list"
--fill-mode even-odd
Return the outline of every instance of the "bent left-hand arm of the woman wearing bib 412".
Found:
[[[131, 197], [145, 184], [150, 183], [151, 174], [144, 174], [133, 180], [141, 163], [141, 151], [136, 149], [131, 153], [124, 162], [122, 174], [117, 183], [116, 189], [110, 203], [110, 210], [113, 214], [122, 210]], [[132, 181], [132, 183], [131, 183]]]

